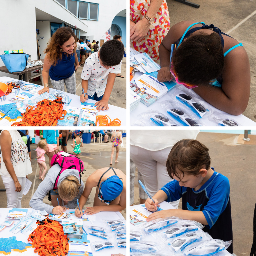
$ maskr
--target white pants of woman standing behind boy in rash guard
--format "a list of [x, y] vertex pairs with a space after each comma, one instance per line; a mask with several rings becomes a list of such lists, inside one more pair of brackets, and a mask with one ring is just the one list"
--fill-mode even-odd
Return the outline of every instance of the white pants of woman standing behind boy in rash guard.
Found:
[[[130, 156], [132, 161], [140, 171], [145, 187], [150, 196], [154, 196], [160, 188], [173, 179], [167, 173], [166, 160], [172, 147], [162, 150], [150, 151], [138, 146], [130, 145]], [[171, 202], [173, 207], [178, 208], [180, 199]]]

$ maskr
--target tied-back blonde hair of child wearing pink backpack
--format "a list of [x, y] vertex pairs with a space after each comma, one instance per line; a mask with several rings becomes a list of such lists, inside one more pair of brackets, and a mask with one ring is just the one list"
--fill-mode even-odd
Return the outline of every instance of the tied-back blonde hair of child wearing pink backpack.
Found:
[[79, 194], [80, 187], [80, 181], [75, 176], [69, 175], [61, 181], [58, 188], [60, 198], [65, 201], [72, 201]]

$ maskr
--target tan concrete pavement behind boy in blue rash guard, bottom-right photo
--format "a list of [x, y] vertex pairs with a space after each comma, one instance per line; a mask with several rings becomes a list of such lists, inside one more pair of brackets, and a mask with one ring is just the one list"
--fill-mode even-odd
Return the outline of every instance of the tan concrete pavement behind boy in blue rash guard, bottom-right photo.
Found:
[[[240, 137], [238, 134], [200, 132], [196, 139], [209, 148], [211, 167], [229, 179], [233, 250], [237, 256], [249, 256], [252, 247], [253, 212], [256, 203], [256, 135], [250, 135], [251, 141], [254, 141], [253, 145], [250, 145], [250, 142], [240, 144], [243, 143]], [[139, 204], [137, 170], [134, 193], [134, 204]], [[181, 208], [182, 200], [179, 204], [179, 209]]]

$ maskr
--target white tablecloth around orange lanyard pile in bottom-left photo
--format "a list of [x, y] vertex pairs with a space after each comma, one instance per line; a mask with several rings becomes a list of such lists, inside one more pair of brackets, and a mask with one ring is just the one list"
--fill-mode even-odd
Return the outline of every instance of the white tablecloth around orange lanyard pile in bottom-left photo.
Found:
[[[9, 210], [11, 210], [12, 208], [0, 208], [0, 225], [5, 221], [5, 217], [7, 216]], [[34, 209], [32, 208], [25, 208], [28, 209], [28, 212], [32, 212]], [[34, 210], [35, 211], [35, 210]], [[74, 210], [67, 210], [66, 212], [74, 212]], [[26, 217], [28, 216], [28, 212]], [[120, 220], [124, 220], [123, 215], [120, 212], [113, 212], [116, 213], [118, 215], [118, 219]], [[111, 214], [111, 212], [108, 212], [108, 214]], [[113, 214], [113, 215], [116, 215]], [[96, 216], [96, 215], [95, 215]], [[15, 222], [12, 224], [12, 226], [10, 227], [6, 227], [4, 228], [2, 231], [0, 231], [0, 237], [12, 237], [12, 236], [16, 236], [16, 240], [17, 241], [21, 241], [23, 243], [28, 243], [28, 236], [23, 235], [22, 233], [18, 232], [17, 234], [13, 234], [12, 232], [9, 232], [10, 229], [13, 228], [13, 226], [18, 223], [19, 220], [15, 220]], [[85, 225], [92, 225], [92, 223], [90, 221], [84, 221], [83, 222], [83, 228], [86, 230]], [[94, 226], [101, 226], [98, 224], [93, 224]], [[112, 231], [110, 231], [112, 232]], [[112, 232], [114, 234], [114, 232]], [[112, 234], [111, 234], [112, 235]], [[94, 241], [102, 241], [105, 242], [106, 240], [101, 239], [99, 237], [96, 236], [91, 236], [91, 235], [87, 235], [87, 239], [90, 241], [90, 243], [94, 242]], [[110, 242], [112, 243], [116, 243], [116, 240], [114, 238], [111, 238]], [[35, 255], [34, 252], [35, 248], [28, 248], [27, 252], [24, 253], [24, 255]], [[117, 253], [122, 253], [124, 255], [126, 255], [126, 248], [118, 248], [117, 246], [112, 248], [112, 249], [106, 249], [106, 250], [102, 250], [102, 251], [98, 251], [95, 252], [92, 250], [93, 256], [102, 256], [104, 254], [104, 256], [110, 256], [111, 254], [117, 254]], [[3, 255], [3, 254], [0, 254]], [[22, 254], [23, 255], [23, 254]], [[36, 255], [38, 255], [38, 253], [36, 253]], [[11, 253], [12, 256], [12, 253]]]

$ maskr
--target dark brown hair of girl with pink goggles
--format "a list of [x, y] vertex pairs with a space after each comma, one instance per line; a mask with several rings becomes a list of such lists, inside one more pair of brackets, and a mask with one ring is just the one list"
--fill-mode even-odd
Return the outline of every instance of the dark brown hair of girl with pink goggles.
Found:
[[224, 68], [220, 36], [215, 32], [188, 36], [174, 51], [172, 64], [180, 81], [209, 84], [222, 74]]

